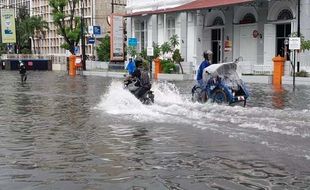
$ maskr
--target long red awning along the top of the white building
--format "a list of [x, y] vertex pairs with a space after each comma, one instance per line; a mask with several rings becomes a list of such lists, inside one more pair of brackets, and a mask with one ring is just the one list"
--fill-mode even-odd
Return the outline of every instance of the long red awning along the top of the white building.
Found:
[[214, 8], [214, 7], [223, 7], [223, 6], [228, 6], [228, 5], [237, 5], [237, 4], [242, 4], [242, 3], [249, 3], [252, 1], [254, 0], [195, 0], [190, 3], [186, 3], [184, 5], [174, 7], [174, 8], [128, 13], [126, 14], [126, 16], [131, 17], [131, 16], [141, 16], [141, 15], [149, 15], [149, 14], [191, 11], [191, 10], [207, 9], [207, 8]]

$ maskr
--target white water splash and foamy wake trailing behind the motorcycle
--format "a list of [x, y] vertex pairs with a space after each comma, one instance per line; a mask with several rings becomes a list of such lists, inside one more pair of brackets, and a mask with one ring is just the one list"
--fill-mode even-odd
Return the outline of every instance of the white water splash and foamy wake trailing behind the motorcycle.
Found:
[[231, 138], [291, 152], [290, 154], [306, 155], [310, 152], [300, 144], [288, 146], [281, 142], [288, 137], [309, 139], [309, 110], [193, 103], [169, 82], [155, 82], [152, 90], [155, 103], [143, 105], [123, 89], [120, 81], [112, 81], [108, 93], [96, 108], [142, 123], [179, 123], [201, 130], [208, 129]]

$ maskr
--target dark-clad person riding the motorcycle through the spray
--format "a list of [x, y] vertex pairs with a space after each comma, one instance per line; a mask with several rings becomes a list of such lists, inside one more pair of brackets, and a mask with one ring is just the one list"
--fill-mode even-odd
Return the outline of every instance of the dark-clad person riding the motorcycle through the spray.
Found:
[[140, 99], [148, 90], [151, 89], [152, 84], [146, 67], [143, 67], [142, 60], [136, 60], [136, 70], [132, 73], [132, 77], [137, 79], [136, 86], [139, 88], [135, 91], [135, 96]]

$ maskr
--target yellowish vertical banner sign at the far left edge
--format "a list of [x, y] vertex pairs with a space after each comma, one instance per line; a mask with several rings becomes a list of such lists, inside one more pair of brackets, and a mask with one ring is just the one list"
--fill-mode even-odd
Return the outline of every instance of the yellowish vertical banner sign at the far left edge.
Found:
[[1, 10], [2, 43], [16, 43], [14, 9]]

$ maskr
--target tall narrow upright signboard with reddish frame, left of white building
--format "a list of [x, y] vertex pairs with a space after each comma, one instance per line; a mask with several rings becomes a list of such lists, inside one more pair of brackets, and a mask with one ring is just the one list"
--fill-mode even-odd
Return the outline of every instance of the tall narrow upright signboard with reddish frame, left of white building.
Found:
[[124, 60], [124, 24], [123, 16], [112, 14], [111, 17], [111, 55], [112, 61]]

